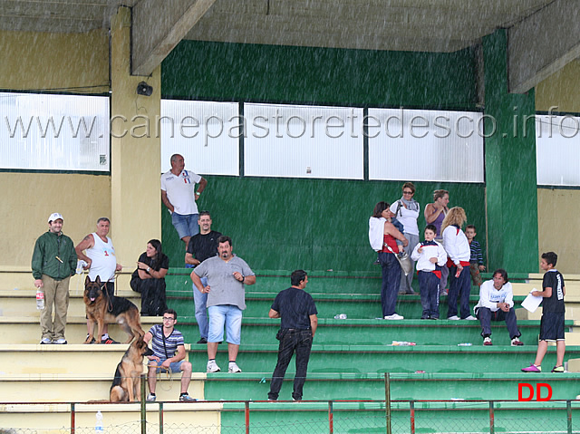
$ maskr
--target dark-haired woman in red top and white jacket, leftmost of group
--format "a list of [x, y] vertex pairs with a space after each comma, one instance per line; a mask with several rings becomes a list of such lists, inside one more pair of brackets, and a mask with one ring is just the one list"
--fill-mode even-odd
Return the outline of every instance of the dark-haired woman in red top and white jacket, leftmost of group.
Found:
[[407, 238], [391, 223], [393, 216], [388, 203], [379, 202], [375, 205], [372, 217], [369, 219], [369, 241], [372, 249], [379, 254], [382, 267], [382, 317], [385, 320], [402, 320], [403, 317], [395, 312], [397, 293], [401, 283], [401, 265], [395, 257], [399, 250], [395, 240], [402, 241], [403, 246], [409, 243]]

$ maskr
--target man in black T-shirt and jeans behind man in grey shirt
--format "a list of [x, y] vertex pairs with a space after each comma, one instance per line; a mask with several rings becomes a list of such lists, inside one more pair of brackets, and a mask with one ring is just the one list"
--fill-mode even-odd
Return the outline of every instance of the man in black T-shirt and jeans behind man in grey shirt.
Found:
[[[199, 213], [199, 233], [189, 238], [188, 250], [185, 254], [185, 263], [190, 265], [199, 265], [208, 257], [218, 254], [218, 238], [221, 234], [211, 230], [211, 216], [208, 211]], [[204, 282], [205, 280], [205, 282]], [[208, 286], [208, 279], [203, 277], [201, 283]], [[198, 343], [208, 343], [208, 294], [198, 291], [193, 285], [193, 301], [196, 306], [196, 321], [198, 322], [199, 334], [201, 339]]]

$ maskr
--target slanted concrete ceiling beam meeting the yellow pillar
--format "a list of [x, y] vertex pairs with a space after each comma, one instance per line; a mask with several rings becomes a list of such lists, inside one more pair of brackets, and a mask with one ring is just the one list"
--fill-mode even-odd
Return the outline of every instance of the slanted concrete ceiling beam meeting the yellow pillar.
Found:
[[150, 75], [216, 0], [143, 0], [133, 7], [131, 73]]

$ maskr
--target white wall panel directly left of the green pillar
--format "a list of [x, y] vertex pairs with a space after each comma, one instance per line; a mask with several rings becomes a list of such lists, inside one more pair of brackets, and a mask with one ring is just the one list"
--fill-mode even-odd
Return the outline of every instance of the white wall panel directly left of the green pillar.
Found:
[[369, 178], [483, 182], [482, 114], [369, 109]]

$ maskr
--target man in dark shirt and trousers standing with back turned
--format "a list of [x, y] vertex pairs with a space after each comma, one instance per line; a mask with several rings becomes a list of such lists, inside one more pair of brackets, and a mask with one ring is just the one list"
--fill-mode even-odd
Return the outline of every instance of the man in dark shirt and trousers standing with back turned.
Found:
[[296, 375], [294, 379], [293, 400], [302, 400], [302, 390], [306, 380], [306, 370], [310, 359], [310, 350], [318, 317], [312, 296], [304, 291], [308, 276], [304, 270], [296, 270], [290, 275], [291, 287], [275, 296], [272, 308], [268, 313], [270, 318], [282, 318], [280, 331], [276, 339], [278, 347], [278, 362], [275, 365], [268, 392], [268, 400], [277, 400], [278, 393], [284, 381], [284, 375], [292, 354], [296, 352]]

